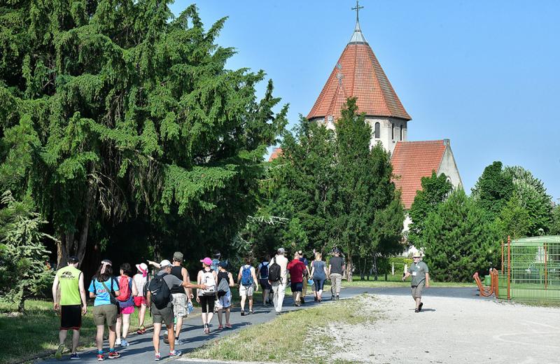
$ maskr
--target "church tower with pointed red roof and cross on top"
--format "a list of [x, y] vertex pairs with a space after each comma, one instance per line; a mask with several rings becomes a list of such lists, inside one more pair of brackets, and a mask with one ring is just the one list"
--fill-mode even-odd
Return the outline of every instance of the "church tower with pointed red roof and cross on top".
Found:
[[371, 145], [380, 141], [386, 151], [393, 153], [398, 141], [407, 140], [411, 118], [365, 40], [360, 29], [360, 8], [363, 6], [356, 3], [356, 27], [307, 119], [334, 129], [346, 99], [357, 97], [358, 112], [365, 113], [372, 127]]

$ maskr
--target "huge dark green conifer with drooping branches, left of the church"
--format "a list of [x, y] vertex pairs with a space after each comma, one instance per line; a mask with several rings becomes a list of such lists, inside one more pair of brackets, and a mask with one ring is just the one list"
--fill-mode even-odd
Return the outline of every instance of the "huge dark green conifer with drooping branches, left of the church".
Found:
[[0, 190], [33, 197], [59, 263], [111, 244], [209, 253], [255, 210], [286, 107], [272, 82], [256, 99], [262, 71], [225, 69], [225, 19], [205, 31], [168, 3], [0, 7]]

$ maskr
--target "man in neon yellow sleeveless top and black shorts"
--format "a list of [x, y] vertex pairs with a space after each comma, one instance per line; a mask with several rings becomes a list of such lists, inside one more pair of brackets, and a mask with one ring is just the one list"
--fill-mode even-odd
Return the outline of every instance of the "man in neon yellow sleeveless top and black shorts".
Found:
[[[60, 309], [60, 330], [58, 333], [59, 345], [55, 358], [62, 358], [64, 341], [68, 330], [73, 330], [71, 359], [79, 359], [76, 348], [80, 340], [80, 328], [82, 327], [82, 315], [87, 311], [85, 300], [85, 287], [83, 285], [83, 273], [78, 269], [78, 258], [71, 256], [68, 266], [59, 269], [55, 281], [52, 282], [52, 297], [54, 297], [55, 311]], [[57, 292], [60, 288], [60, 302], [57, 302]]]

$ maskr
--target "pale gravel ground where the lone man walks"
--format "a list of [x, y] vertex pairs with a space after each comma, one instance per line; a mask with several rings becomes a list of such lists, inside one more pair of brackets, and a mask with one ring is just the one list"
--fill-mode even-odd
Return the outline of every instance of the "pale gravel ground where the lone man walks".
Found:
[[[430, 288], [428, 288], [429, 291]], [[364, 311], [367, 325], [329, 328], [333, 358], [361, 363], [560, 363], [560, 309], [492, 300], [377, 293]]]

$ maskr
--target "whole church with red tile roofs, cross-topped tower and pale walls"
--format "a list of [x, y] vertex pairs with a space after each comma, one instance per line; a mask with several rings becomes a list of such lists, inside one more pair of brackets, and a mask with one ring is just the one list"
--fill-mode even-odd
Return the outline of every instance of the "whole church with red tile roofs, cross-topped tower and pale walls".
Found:
[[[451, 151], [449, 139], [408, 141], [408, 126], [412, 117], [400, 102], [391, 82], [381, 68], [360, 28], [356, 4], [356, 27], [342, 55], [333, 67], [323, 90], [319, 93], [307, 119], [335, 128], [336, 120], [346, 99], [356, 97], [358, 112], [365, 113], [365, 120], [372, 127], [371, 146], [381, 143], [391, 152], [394, 183], [401, 191], [401, 200], [408, 210], [416, 192], [421, 190], [421, 178], [445, 174], [454, 188], [462, 187], [461, 176]], [[269, 160], [281, 153], [276, 148]], [[405, 231], [409, 225], [405, 221]]]

